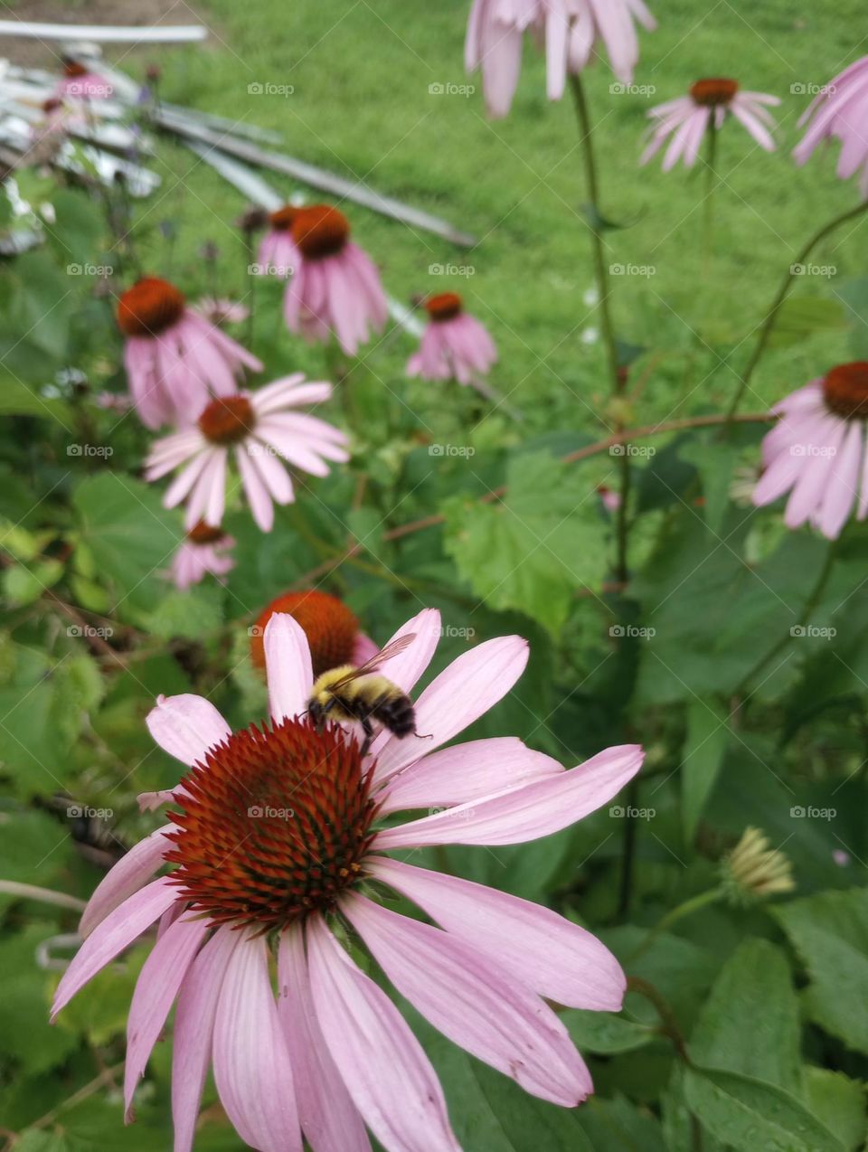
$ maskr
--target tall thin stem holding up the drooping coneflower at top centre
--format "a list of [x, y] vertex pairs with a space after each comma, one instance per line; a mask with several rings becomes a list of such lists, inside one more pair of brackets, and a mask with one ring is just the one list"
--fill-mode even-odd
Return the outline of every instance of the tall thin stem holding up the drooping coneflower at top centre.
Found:
[[[602, 237], [602, 213], [600, 211], [600, 181], [596, 172], [596, 159], [594, 156], [594, 141], [592, 134], [591, 115], [588, 112], [585, 89], [581, 76], [574, 73], [570, 76], [573, 100], [576, 103], [576, 115], [579, 122], [581, 151], [585, 158], [585, 182], [589, 204], [588, 227], [591, 229], [591, 242], [594, 256], [594, 273], [596, 278], [596, 291], [600, 297], [597, 308], [600, 309], [600, 329], [606, 346], [606, 356], [609, 365], [609, 377], [611, 380], [612, 396], [619, 396], [626, 385], [626, 378], [618, 371], [618, 344], [615, 338], [615, 325], [611, 318], [609, 270], [606, 264], [606, 248]], [[616, 432], [623, 430], [623, 424], [616, 424]], [[630, 531], [629, 508], [630, 498], [630, 457], [626, 450], [618, 457], [620, 463], [620, 506], [618, 507], [616, 529], [616, 563], [615, 578], [620, 583], [627, 579], [627, 538]]]

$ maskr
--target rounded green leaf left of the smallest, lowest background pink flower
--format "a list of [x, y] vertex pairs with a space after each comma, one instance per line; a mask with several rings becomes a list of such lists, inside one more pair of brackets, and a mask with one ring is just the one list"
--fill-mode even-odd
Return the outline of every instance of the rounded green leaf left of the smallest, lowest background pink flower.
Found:
[[153, 611], [168, 591], [160, 573], [183, 539], [177, 515], [160, 493], [120, 472], [89, 477], [73, 498], [82, 541], [116, 605]]

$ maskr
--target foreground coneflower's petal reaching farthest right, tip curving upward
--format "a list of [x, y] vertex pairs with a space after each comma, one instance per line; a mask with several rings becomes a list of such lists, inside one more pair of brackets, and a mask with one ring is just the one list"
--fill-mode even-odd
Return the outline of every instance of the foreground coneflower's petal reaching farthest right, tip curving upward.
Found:
[[644, 757], [639, 744], [607, 748], [569, 772], [379, 832], [375, 848], [520, 844], [549, 836], [610, 801], [635, 775]]

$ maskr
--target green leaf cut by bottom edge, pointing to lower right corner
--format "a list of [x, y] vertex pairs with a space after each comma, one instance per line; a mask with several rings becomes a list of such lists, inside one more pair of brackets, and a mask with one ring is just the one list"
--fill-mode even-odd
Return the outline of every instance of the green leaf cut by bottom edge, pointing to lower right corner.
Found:
[[840, 1140], [795, 1097], [738, 1073], [688, 1068], [691, 1111], [738, 1152], [844, 1152]]

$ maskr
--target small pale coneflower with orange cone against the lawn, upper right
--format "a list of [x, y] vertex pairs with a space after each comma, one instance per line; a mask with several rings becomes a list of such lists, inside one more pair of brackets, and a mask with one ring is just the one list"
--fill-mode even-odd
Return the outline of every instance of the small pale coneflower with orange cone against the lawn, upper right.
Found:
[[690, 96], [680, 96], [650, 109], [648, 115], [655, 121], [655, 127], [639, 162], [647, 164], [671, 136], [663, 158], [663, 172], [669, 172], [678, 160], [684, 160], [685, 167], [692, 168], [706, 131], [711, 127], [719, 129], [728, 114], [745, 126], [760, 147], [774, 152], [775, 141], [768, 129], [775, 127], [775, 121], [766, 105], [777, 104], [781, 100], [776, 96], [739, 91], [734, 79], [698, 79]]

